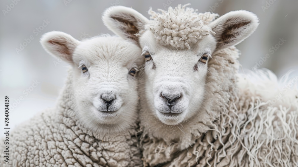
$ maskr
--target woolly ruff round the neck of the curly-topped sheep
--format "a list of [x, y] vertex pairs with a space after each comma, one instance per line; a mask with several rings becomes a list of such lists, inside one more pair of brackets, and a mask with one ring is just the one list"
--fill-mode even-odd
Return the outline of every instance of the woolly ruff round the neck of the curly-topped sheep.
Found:
[[[212, 55], [209, 61], [209, 72], [206, 77], [206, 95], [203, 106], [198, 109], [197, 115], [180, 125], [164, 125], [158, 118], [152, 119], [152, 106], [147, 103], [146, 91], [140, 89], [140, 125], [144, 127], [143, 137], [152, 140], [164, 140], [168, 145], [179, 143], [181, 149], [187, 148], [208, 129], [216, 127], [214, 122], [227, 107], [229, 102], [237, 98], [237, 75], [239, 63], [236, 60], [239, 52], [235, 47], [220, 50]], [[141, 88], [146, 87], [146, 76], [140, 79]], [[151, 117], [150, 117], [151, 116]], [[150, 118], [150, 119], [148, 119]]]

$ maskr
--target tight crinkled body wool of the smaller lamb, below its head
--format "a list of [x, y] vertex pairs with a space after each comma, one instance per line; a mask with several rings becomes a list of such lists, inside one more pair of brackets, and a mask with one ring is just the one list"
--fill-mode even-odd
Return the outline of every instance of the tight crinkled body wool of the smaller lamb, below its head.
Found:
[[72, 69], [68, 73], [58, 107], [45, 110], [11, 132], [10, 163], [4, 163], [1, 154], [1, 166], [142, 166], [136, 124], [121, 133], [100, 134], [80, 123], [72, 100]]

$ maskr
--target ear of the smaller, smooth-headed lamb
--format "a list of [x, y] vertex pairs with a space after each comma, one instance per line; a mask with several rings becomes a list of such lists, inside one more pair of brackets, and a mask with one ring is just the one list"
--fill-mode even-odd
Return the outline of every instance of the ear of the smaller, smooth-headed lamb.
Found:
[[72, 54], [80, 43], [80, 41], [77, 41], [71, 35], [59, 31], [44, 34], [40, 42], [49, 54], [69, 63], [73, 62]]

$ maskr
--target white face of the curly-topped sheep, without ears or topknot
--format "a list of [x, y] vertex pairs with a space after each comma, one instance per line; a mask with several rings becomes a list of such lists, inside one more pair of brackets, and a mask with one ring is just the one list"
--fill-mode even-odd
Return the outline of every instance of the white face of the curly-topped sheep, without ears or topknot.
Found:
[[140, 37], [148, 81], [147, 100], [165, 124], [176, 125], [191, 118], [204, 100], [208, 59], [216, 42], [209, 35], [192, 50], [160, 47], [150, 31]]

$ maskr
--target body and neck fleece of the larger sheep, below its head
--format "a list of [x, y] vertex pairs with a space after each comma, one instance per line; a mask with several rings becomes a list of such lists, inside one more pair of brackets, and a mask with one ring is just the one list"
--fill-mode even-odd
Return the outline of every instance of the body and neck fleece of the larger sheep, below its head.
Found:
[[[271, 103], [272, 95], [281, 91], [276, 90], [272, 73], [239, 75], [238, 54], [230, 47], [212, 55], [205, 105], [192, 120], [162, 126], [155, 118], [141, 124], [146, 127], [142, 139], [145, 166], [298, 166], [297, 89], [283, 92], [281, 101]], [[265, 90], [271, 92], [271, 99]], [[206, 118], [203, 111], [209, 119], [202, 120]], [[145, 116], [141, 110], [141, 120]], [[197, 127], [206, 131], [198, 132]], [[168, 129], [163, 138], [153, 136], [161, 129]], [[173, 134], [179, 137], [177, 141], [167, 139]]]

